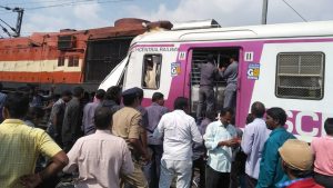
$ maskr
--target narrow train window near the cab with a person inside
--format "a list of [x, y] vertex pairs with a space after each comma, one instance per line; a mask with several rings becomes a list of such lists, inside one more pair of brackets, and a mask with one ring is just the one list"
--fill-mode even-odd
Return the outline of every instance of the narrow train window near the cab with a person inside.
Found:
[[143, 57], [142, 88], [160, 88], [161, 65], [162, 55], [145, 55]]

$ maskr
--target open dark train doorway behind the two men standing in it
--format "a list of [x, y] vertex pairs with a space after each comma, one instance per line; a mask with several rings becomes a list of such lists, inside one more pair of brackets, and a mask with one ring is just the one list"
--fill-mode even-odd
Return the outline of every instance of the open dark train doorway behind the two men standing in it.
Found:
[[[208, 55], [213, 55], [214, 65], [216, 68], [228, 67], [230, 65], [230, 57], [234, 56], [236, 59], [240, 57], [240, 48], [238, 47], [209, 47], [209, 48], [192, 48], [189, 52], [191, 56], [188, 59], [188, 65], [191, 67], [188, 69], [189, 78], [189, 96], [191, 100], [191, 113], [196, 116], [198, 105], [199, 105], [199, 89], [200, 89], [200, 63], [206, 62]], [[224, 90], [226, 87], [225, 79], [219, 79], [215, 81], [214, 86], [214, 101], [215, 101], [215, 111], [220, 110], [223, 107], [224, 102]], [[240, 88], [240, 87], [239, 87]], [[238, 91], [239, 92], [239, 91]], [[236, 102], [236, 101], [235, 101]], [[203, 106], [202, 116], [204, 117], [206, 103]]]

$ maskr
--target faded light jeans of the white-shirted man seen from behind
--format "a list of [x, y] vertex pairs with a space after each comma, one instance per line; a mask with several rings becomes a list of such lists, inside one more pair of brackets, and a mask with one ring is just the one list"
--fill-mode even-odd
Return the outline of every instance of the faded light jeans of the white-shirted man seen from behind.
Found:
[[192, 177], [192, 160], [161, 160], [160, 188], [170, 188], [176, 176], [176, 188], [190, 188]]

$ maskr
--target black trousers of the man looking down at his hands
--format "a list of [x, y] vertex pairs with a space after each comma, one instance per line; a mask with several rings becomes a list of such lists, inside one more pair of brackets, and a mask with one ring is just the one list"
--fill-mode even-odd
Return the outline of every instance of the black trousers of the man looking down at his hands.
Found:
[[209, 165], [205, 168], [205, 187], [206, 188], [229, 188], [230, 172], [219, 172]]

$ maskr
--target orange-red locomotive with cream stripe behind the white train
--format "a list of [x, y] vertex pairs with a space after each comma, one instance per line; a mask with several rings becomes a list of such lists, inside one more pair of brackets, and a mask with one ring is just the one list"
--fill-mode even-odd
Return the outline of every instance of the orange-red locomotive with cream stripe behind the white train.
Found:
[[148, 24], [159, 22], [123, 18], [113, 27], [0, 39], [0, 81], [9, 91], [27, 85], [42, 90], [56, 86], [56, 91], [81, 86], [94, 91]]

